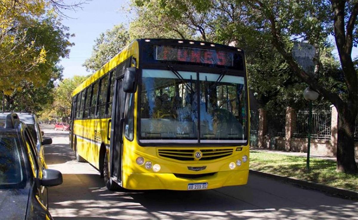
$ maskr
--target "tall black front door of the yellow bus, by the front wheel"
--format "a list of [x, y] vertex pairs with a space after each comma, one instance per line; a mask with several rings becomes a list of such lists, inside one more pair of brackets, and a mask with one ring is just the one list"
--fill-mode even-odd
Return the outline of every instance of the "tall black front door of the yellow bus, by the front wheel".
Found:
[[124, 106], [126, 93], [122, 89], [123, 75], [116, 77], [115, 94], [112, 102], [112, 121], [110, 137], [110, 172], [111, 177], [122, 181], [122, 141], [123, 141], [123, 122]]

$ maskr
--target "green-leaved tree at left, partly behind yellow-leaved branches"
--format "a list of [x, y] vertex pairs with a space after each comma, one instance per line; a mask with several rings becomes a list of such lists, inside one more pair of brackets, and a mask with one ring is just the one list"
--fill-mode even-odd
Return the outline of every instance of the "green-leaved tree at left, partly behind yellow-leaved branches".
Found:
[[[69, 47], [73, 45], [68, 40], [70, 34], [67, 31], [68, 27], [63, 26], [54, 14], [48, 14], [44, 19], [32, 22], [32, 27], [27, 30], [25, 42], [33, 41], [35, 48], [46, 50], [46, 58], [30, 70], [23, 70], [23, 66], [26, 66], [33, 56], [29, 52], [27, 58], [15, 61], [14, 65], [17, 63], [17, 66], [8, 70], [11, 77], [2, 78], [0, 88], [6, 95], [7, 111], [39, 111], [41, 104], [52, 101], [53, 97], [50, 94], [54, 82], [62, 78], [62, 67], [58, 67], [57, 63], [61, 57], [68, 56]], [[41, 96], [43, 100], [40, 99]]]

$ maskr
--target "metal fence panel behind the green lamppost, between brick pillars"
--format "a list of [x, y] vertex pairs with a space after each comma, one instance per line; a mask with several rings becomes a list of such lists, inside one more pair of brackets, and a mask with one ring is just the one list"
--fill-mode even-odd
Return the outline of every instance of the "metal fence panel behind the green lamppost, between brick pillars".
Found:
[[[307, 108], [296, 113], [296, 129], [293, 137], [307, 137], [308, 134], [308, 114]], [[331, 109], [313, 109], [311, 121], [311, 138], [330, 139], [331, 138]]]

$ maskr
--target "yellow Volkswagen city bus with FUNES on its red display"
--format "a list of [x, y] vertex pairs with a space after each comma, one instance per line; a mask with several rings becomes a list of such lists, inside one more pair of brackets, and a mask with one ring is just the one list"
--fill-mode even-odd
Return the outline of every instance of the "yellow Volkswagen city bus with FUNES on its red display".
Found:
[[109, 190], [203, 190], [247, 183], [244, 52], [140, 39], [73, 92], [71, 147]]

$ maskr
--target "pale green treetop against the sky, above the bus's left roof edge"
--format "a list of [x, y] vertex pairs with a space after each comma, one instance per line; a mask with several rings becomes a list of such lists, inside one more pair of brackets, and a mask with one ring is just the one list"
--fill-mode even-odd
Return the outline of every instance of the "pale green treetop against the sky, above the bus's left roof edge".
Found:
[[86, 67], [88, 72], [99, 70], [129, 42], [129, 33], [124, 25], [115, 25], [95, 40], [91, 57], [84, 61], [82, 66]]

